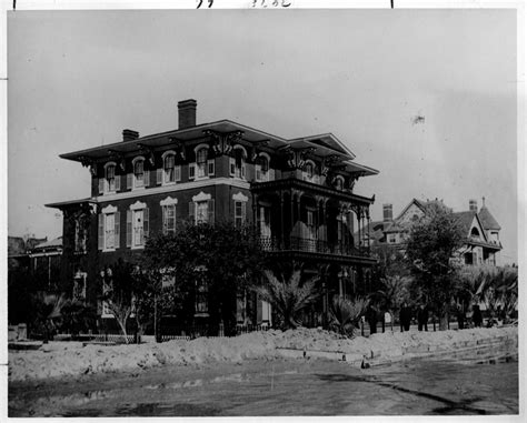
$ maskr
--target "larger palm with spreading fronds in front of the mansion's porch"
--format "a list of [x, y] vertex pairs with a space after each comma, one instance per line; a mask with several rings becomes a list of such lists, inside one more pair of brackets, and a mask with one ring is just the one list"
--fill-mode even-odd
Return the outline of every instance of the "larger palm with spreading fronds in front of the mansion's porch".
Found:
[[265, 274], [267, 284], [256, 288], [256, 292], [262, 300], [271, 303], [281, 321], [282, 330], [300, 326], [300, 312], [320, 296], [316, 286], [318, 278], [301, 283], [300, 270], [294, 271], [289, 280], [284, 276], [278, 280], [270, 271]]

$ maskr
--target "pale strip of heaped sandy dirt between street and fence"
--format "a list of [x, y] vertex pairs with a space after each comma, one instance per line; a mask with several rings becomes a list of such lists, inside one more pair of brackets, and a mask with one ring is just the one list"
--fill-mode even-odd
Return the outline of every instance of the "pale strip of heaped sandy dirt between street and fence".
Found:
[[[424, 352], [448, 352], [493, 340], [513, 339], [517, 328], [471, 329], [444, 332], [386, 332], [369, 338], [341, 339], [317, 329], [268, 331], [236, 338], [199, 338], [161, 344], [87, 345], [51, 342], [38, 351], [9, 351], [9, 382], [113, 372], [137, 372], [163, 365], [242, 363], [276, 360], [290, 351], [338, 352], [350, 356], [397, 361]], [[315, 356], [315, 355], [314, 355]]]

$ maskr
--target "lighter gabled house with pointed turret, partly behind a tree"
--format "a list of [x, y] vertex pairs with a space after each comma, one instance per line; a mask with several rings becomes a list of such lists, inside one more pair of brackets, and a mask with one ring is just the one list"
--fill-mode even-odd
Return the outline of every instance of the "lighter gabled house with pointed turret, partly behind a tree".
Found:
[[[412, 199], [410, 203], [394, 219], [391, 204], [384, 204], [382, 222], [372, 222], [368, 228], [369, 236], [378, 245], [392, 245], [404, 250], [411, 224], [419, 221], [426, 213], [430, 203], [443, 200], [420, 201]], [[499, 241], [500, 225], [485, 205], [478, 211], [476, 200], [469, 201], [469, 210], [454, 212], [466, 234], [466, 241], [459, 250], [459, 258], [464, 264], [491, 264], [496, 265], [498, 252], [501, 250]], [[451, 209], [449, 209], [451, 211]]]

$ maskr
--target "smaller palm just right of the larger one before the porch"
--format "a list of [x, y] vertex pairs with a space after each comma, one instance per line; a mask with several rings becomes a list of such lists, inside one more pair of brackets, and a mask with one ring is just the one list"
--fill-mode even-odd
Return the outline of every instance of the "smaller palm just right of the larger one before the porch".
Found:
[[341, 335], [354, 336], [355, 328], [358, 326], [368, 304], [369, 301], [360, 296], [348, 300], [335, 295], [329, 311], [329, 326]]

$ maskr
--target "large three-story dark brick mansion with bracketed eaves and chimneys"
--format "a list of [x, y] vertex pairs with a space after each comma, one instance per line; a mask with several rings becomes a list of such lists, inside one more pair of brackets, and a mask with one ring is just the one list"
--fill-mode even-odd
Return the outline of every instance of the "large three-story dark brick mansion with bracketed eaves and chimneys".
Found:
[[[178, 103], [178, 130], [125, 130], [120, 142], [61, 154], [92, 177], [90, 198], [48, 204], [64, 216], [63, 289], [81, 278], [96, 303], [107, 266], [137, 260], [148, 236], [183, 220], [257, 225], [276, 262], [304, 262], [322, 275], [320, 306], [364, 284], [375, 263], [364, 230], [374, 198], [354, 187], [378, 171], [355, 162], [331, 133], [286, 140], [230, 120], [197, 124], [196, 108]], [[270, 321], [267, 304], [255, 309], [252, 323]]]

